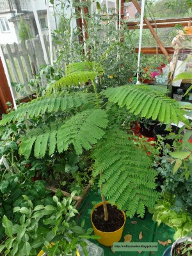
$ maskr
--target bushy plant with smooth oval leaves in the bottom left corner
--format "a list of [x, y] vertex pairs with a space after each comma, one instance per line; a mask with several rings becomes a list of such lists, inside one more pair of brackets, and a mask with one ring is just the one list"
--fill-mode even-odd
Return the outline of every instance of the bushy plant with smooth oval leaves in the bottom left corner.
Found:
[[90, 236], [92, 228], [85, 232], [84, 223], [79, 227], [75, 221], [70, 221], [78, 213], [72, 203], [75, 194], [76, 191], [72, 192], [71, 197], [63, 198], [61, 202], [57, 196], [53, 196], [53, 204], [36, 206], [28, 196], [23, 196], [28, 206], [13, 209], [13, 214], [21, 214], [19, 223], [14, 225], [3, 216], [3, 227], [8, 239], [1, 244], [1, 252], [12, 256], [36, 256], [43, 249], [52, 256], [60, 253], [74, 255], [77, 244], [83, 248], [86, 246], [84, 237], [98, 239], [97, 236]]

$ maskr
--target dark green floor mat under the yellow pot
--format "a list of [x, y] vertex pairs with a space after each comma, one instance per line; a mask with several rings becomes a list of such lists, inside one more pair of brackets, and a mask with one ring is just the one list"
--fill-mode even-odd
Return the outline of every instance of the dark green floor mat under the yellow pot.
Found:
[[[90, 228], [92, 227], [92, 222], [90, 220], [90, 214], [93, 208], [92, 202], [99, 203], [101, 201], [100, 195], [97, 195], [94, 193], [94, 191], [90, 191], [88, 193], [88, 196], [84, 199], [83, 204], [78, 209], [79, 215], [77, 216], [77, 223], [80, 224], [81, 221], [84, 219], [85, 225], [84, 228]], [[131, 221], [137, 221], [136, 224], [132, 224]], [[142, 231], [143, 239], [139, 239], [139, 234]], [[161, 224], [159, 227], [157, 227], [157, 223], [155, 223], [152, 220], [152, 214], [147, 212], [145, 216], [145, 220], [141, 220], [140, 218], [127, 218], [125, 227], [124, 227], [124, 233], [122, 236], [122, 239], [120, 242], [124, 242], [124, 236], [127, 234], [132, 235], [132, 242], [157, 242], [159, 241], [167, 241], [168, 239], [171, 239], [173, 241], [173, 234], [174, 230], [173, 228], [170, 228], [164, 224]], [[97, 240], [90, 240], [92, 243], [97, 244], [98, 246], [102, 247], [104, 249], [104, 256], [162, 256], [164, 250], [168, 246], [163, 246], [158, 243], [158, 252], [112, 252], [111, 247], [109, 246], [102, 246], [102, 244], [99, 244]]]

